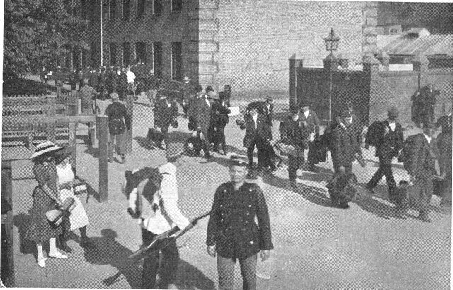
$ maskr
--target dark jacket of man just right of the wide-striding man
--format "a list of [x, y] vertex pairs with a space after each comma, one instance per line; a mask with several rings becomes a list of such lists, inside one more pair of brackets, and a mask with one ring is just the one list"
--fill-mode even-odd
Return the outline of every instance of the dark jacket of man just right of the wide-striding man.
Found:
[[418, 134], [410, 157], [408, 174], [415, 177], [423, 177], [427, 172], [432, 174], [436, 155], [435, 138], [432, 137], [431, 143], [428, 143], [423, 133]]

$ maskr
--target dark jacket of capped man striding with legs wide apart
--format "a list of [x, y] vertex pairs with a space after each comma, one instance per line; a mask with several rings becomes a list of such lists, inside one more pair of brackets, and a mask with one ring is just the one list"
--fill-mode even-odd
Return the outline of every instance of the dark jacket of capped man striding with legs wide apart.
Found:
[[389, 133], [382, 135], [376, 146], [376, 156], [381, 160], [387, 160], [391, 162], [394, 156], [398, 156], [399, 150], [404, 145], [404, 134], [403, 127], [399, 123], [395, 123], [395, 131], [391, 131], [389, 121], [383, 121], [382, 126], [384, 130], [388, 130]]

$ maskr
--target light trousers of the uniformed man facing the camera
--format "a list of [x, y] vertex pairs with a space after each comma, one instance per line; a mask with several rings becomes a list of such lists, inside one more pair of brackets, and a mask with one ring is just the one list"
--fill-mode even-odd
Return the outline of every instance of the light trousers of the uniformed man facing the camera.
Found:
[[[238, 259], [241, 266], [243, 290], [256, 289], [256, 254], [245, 259]], [[217, 271], [219, 272], [219, 290], [234, 289], [234, 265], [236, 260], [217, 255]]]

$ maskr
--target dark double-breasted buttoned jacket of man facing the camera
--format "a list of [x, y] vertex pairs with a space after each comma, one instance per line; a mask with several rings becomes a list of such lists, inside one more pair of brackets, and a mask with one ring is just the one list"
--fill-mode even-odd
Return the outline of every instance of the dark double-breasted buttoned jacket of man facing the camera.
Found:
[[234, 191], [228, 182], [217, 188], [206, 243], [215, 245], [217, 253], [224, 258], [248, 258], [260, 250], [274, 248], [268, 207], [258, 185], [244, 183]]

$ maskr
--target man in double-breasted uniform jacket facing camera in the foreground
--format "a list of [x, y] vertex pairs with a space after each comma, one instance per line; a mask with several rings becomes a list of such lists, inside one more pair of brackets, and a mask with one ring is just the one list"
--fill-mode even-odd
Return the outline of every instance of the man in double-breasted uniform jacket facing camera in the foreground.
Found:
[[[243, 289], [256, 289], [256, 259], [270, 256], [271, 241], [268, 207], [263, 191], [246, 183], [247, 162], [231, 157], [231, 181], [219, 186], [214, 195], [207, 224], [207, 253], [217, 255], [219, 289], [234, 288], [234, 265], [239, 260]], [[258, 219], [258, 226], [255, 223]]]

